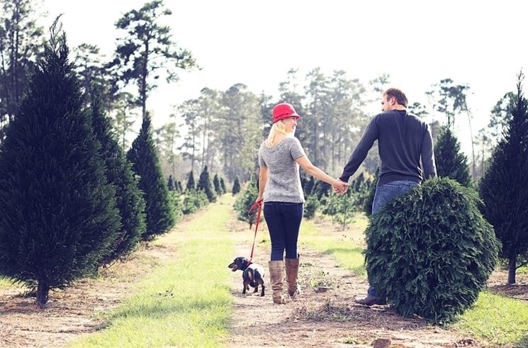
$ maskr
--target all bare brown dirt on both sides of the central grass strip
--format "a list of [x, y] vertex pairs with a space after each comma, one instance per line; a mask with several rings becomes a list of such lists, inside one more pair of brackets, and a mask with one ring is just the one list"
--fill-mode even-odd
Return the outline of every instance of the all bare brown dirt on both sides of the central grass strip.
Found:
[[[193, 219], [206, 218], [206, 211], [186, 218], [174, 232], [184, 232]], [[330, 227], [323, 229], [326, 232]], [[237, 241], [236, 256], [247, 255], [247, 241], [252, 240], [247, 224], [233, 218], [230, 230]], [[265, 227], [259, 233], [264, 230]], [[340, 232], [336, 233], [339, 236]], [[267, 271], [269, 252], [261, 245], [257, 243], [254, 261]], [[401, 318], [384, 306], [354, 305], [355, 296], [364, 296], [366, 281], [337, 267], [325, 254], [306, 249], [301, 252], [303, 294], [287, 305], [273, 305], [269, 286], [263, 298], [242, 296], [242, 275], [232, 274], [235, 309], [232, 335], [225, 342], [228, 346], [371, 347], [374, 339], [387, 338], [393, 347], [488, 347], [471, 337], [430, 327], [418, 318]], [[99, 311], [115, 308], [139, 279], [176, 254], [171, 246], [142, 245], [125, 262], [103, 271], [99, 279], [84, 279], [64, 291], [52, 291], [45, 310], [35, 305], [34, 297], [25, 296], [26, 289], [0, 289], [0, 347], [60, 347], [95, 332], [103, 325]], [[494, 274], [490, 289], [528, 299], [528, 276], [519, 275], [515, 286], [502, 285], [504, 279], [503, 271]]]

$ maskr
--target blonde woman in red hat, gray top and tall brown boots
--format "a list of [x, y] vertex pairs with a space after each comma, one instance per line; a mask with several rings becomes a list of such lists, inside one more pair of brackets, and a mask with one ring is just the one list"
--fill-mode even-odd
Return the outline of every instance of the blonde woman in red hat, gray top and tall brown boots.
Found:
[[297, 240], [305, 202], [300, 186], [299, 166], [316, 179], [332, 185], [337, 192], [347, 191], [348, 187], [348, 184], [322, 172], [306, 157], [299, 140], [294, 137], [299, 118], [290, 104], [276, 105], [273, 108], [273, 125], [268, 139], [259, 148], [257, 202], [264, 201], [264, 218], [271, 239], [269, 274], [274, 303], [285, 303], [286, 298], [282, 293], [284, 264], [288, 295], [293, 298], [299, 293]]

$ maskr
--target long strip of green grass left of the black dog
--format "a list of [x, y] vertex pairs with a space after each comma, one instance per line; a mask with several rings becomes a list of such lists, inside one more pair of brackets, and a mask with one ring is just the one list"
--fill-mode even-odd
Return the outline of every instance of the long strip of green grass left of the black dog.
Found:
[[[230, 205], [206, 208], [184, 232], [155, 244], [175, 244], [174, 259], [152, 269], [130, 298], [111, 313], [106, 327], [70, 347], [218, 347], [228, 335], [232, 314], [228, 234]], [[181, 235], [184, 234], [185, 237]]]

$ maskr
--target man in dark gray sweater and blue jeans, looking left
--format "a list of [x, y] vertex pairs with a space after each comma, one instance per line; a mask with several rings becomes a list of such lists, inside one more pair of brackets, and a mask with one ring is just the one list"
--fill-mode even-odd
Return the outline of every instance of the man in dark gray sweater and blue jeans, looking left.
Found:
[[[400, 89], [391, 88], [383, 93], [383, 113], [372, 118], [339, 177], [339, 180], [348, 182], [364, 161], [374, 141], [378, 140], [381, 167], [372, 204], [373, 214], [395, 196], [420, 184], [422, 179], [437, 176], [429, 126], [417, 116], [408, 113], [407, 105], [407, 97]], [[420, 158], [423, 172], [420, 168]], [[362, 305], [386, 303], [385, 298], [376, 295], [376, 289], [372, 286], [369, 286], [366, 298], [355, 301]]]

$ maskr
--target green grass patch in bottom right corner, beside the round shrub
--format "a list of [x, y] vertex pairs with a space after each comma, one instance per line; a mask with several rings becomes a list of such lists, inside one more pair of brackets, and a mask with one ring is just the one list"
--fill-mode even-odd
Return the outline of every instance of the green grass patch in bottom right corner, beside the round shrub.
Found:
[[453, 326], [493, 344], [528, 347], [528, 303], [484, 291]]

